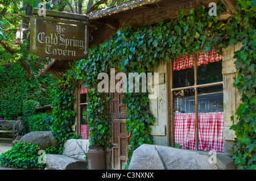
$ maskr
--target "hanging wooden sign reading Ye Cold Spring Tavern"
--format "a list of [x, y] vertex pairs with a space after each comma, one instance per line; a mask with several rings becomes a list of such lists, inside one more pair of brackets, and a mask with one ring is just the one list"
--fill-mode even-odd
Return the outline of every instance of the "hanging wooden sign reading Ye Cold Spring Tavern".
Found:
[[[33, 10], [30, 52], [42, 58], [81, 60], [88, 56], [87, 16], [67, 12]], [[67, 20], [71, 19], [71, 20]]]

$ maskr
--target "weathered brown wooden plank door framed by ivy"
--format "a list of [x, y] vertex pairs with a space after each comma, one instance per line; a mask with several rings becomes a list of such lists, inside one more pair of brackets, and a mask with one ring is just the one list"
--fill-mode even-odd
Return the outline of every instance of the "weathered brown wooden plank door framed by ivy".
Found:
[[129, 134], [125, 130], [127, 112], [125, 105], [122, 103], [123, 97], [123, 92], [114, 92], [110, 96], [110, 169], [118, 170], [125, 168], [128, 159], [127, 149], [129, 148]]

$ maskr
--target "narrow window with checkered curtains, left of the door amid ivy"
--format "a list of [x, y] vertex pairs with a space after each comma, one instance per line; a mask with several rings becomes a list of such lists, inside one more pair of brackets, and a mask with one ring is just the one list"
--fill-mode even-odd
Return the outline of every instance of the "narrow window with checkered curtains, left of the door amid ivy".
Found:
[[90, 128], [88, 127], [88, 116], [85, 114], [85, 111], [87, 110], [87, 103], [88, 103], [88, 98], [87, 98], [87, 92], [88, 92], [88, 87], [86, 85], [79, 85], [79, 90], [80, 90], [80, 95], [79, 95], [79, 125], [80, 125], [80, 133], [81, 137], [83, 139], [89, 139], [89, 134], [90, 134]]

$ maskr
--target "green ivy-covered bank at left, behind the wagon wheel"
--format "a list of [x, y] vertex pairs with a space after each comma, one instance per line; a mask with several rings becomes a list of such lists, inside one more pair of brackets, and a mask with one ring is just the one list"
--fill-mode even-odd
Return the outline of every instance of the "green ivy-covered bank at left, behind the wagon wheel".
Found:
[[28, 79], [26, 71], [17, 63], [0, 66], [0, 117], [14, 120], [22, 116], [27, 100], [34, 100], [41, 106], [51, 104], [54, 76], [46, 74], [39, 78], [38, 71], [32, 71], [34, 76]]

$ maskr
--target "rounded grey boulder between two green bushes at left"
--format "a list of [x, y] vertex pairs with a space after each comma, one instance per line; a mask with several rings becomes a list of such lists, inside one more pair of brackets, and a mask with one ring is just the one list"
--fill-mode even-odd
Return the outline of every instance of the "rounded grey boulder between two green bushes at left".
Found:
[[40, 149], [44, 150], [47, 146], [58, 146], [54, 140], [55, 137], [51, 131], [35, 131], [25, 134], [20, 138], [19, 142], [31, 142], [32, 144], [39, 145]]

